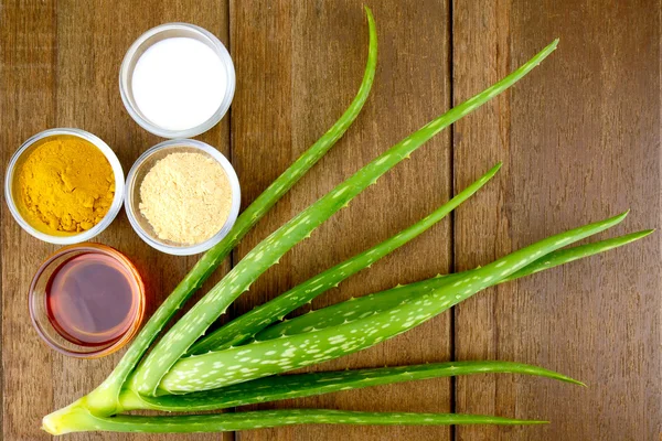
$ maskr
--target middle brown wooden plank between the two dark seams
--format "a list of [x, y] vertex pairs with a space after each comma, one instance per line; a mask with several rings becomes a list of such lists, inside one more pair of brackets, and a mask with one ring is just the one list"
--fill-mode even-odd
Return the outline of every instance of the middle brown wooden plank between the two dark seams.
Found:
[[[414, 8], [384, 1], [373, 7], [380, 67], [363, 114], [244, 241], [236, 259], [342, 179], [448, 108], [446, 2], [421, 1]], [[248, 202], [321, 136], [354, 96], [367, 52], [366, 23], [360, 1], [237, 0], [231, 3], [231, 26], [239, 78], [232, 115], [233, 155]], [[252, 286], [235, 313], [387, 238], [440, 205], [450, 193], [449, 159], [446, 132], [281, 259]], [[449, 227], [445, 222], [433, 228], [313, 304], [321, 306], [445, 272], [450, 262]], [[408, 335], [320, 368], [448, 359], [449, 326], [448, 315], [440, 316]], [[271, 406], [448, 411], [449, 381], [341, 392]], [[445, 440], [449, 429], [309, 426], [242, 432], [239, 437], [249, 441]]]

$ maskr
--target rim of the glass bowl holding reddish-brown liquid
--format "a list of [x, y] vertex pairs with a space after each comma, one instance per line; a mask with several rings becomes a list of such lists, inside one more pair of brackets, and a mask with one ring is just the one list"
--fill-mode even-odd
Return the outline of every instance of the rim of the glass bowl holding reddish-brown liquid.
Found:
[[[119, 261], [120, 265], [122, 265], [125, 268], [127, 268], [129, 270], [129, 272], [134, 276], [136, 283], [138, 286], [138, 290], [140, 292], [139, 292], [139, 297], [138, 297], [138, 308], [136, 309], [136, 316], [134, 318], [129, 329], [119, 338], [117, 338], [117, 341], [115, 341], [115, 343], [113, 343], [109, 346], [99, 346], [99, 348], [97, 351], [78, 352], [78, 351], [67, 349], [47, 336], [46, 332], [44, 332], [42, 330], [41, 324], [38, 322], [38, 320], [35, 318], [36, 312], [34, 310], [35, 306], [33, 303], [34, 303], [34, 301], [38, 301], [38, 299], [35, 299], [36, 294], [34, 293], [35, 286], [39, 282], [40, 278], [42, 277], [43, 272], [46, 270], [46, 268], [55, 259], [57, 259], [62, 256], [65, 256], [67, 254], [75, 252], [75, 251], [85, 251], [85, 250], [103, 252], [106, 256], [110, 256], [111, 258]], [[41, 337], [42, 342], [44, 342], [49, 347], [57, 351], [61, 354], [67, 355], [70, 357], [99, 358], [99, 357], [110, 355], [110, 354], [121, 349], [138, 333], [138, 330], [140, 329], [142, 321], [145, 320], [145, 310], [146, 310], [145, 283], [142, 281], [142, 277], [140, 277], [140, 272], [138, 272], [138, 269], [136, 268], [134, 262], [131, 260], [129, 260], [129, 258], [126, 257], [122, 252], [118, 251], [117, 249], [109, 247], [107, 245], [93, 244], [93, 243], [70, 245], [67, 247], [61, 248], [57, 251], [53, 252], [51, 256], [49, 256], [42, 262], [42, 265], [40, 265], [39, 269], [34, 273], [34, 277], [32, 278], [32, 281], [30, 282], [30, 290], [28, 292], [28, 308], [30, 310], [30, 320], [32, 321], [32, 325], [34, 326], [34, 330]]]

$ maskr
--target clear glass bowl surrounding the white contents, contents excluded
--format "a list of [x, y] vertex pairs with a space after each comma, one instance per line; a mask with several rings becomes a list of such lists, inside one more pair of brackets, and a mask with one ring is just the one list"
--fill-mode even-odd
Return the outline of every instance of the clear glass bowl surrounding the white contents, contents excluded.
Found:
[[[195, 39], [211, 47], [216, 55], [218, 55], [218, 58], [221, 58], [221, 63], [223, 63], [225, 66], [225, 74], [227, 78], [225, 95], [214, 115], [212, 115], [210, 119], [201, 125], [184, 130], [164, 129], [151, 122], [137, 106], [132, 90], [134, 69], [136, 68], [136, 64], [145, 51], [147, 51], [154, 43], [177, 36]], [[177, 63], [177, 61], [173, 60], [173, 63]], [[225, 49], [223, 43], [207, 30], [189, 23], [166, 23], [150, 29], [140, 35], [138, 40], [134, 42], [134, 44], [131, 44], [124, 57], [124, 61], [121, 62], [121, 67], [119, 69], [119, 94], [121, 95], [121, 100], [127, 111], [140, 127], [150, 133], [162, 138], [193, 138], [214, 127], [227, 112], [227, 109], [232, 103], [232, 98], [234, 97], [235, 86], [236, 78], [234, 64], [229, 53], [227, 52], [227, 49]]]

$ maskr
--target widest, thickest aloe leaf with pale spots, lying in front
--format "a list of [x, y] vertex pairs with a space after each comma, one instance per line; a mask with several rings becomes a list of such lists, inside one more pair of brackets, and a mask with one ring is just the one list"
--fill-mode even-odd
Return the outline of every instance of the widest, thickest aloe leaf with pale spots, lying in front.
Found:
[[[530, 245], [453, 283], [448, 283], [385, 314], [360, 319], [321, 331], [194, 355], [177, 362], [159, 385], [160, 395], [224, 387], [338, 358], [402, 334], [452, 305], [526, 267], [543, 255], [620, 223], [627, 212], [574, 228]], [[204, 375], [204, 377], [203, 377]]]

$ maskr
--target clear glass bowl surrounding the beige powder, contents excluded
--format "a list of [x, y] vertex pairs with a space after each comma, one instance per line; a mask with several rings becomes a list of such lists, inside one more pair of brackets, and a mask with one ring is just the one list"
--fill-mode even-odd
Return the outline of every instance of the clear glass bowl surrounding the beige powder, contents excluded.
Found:
[[[194, 245], [178, 244], [170, 240], [160, 239], [154, 233], [149, 220], [147, 220], [142, 213], [140, 213], [139, 208], [140, 185], [142, 184], [142, 180], [147, 173], [157, 163], [157, 161], [166, 158], [170, 153], [181, 152], [202, 153], [215, 160], [225, 171], [225, 175], [227, 176], [229, 186], [232, 189], [232, 205], [225, 224], [223, 224], [223, 227], [214, 236], [203, 243]], [[191, 256], [199, 252], [204, 252], [214, 245], [218, 244], [227, 235], [237, 219], [241, 203], [242, 192], [239, 189], [239, 180], [229, 161], [218, 150], [214, 149], [210, 144], [194, 139], [164, 141], [147, 150], [140, 155], [140, 158], [138, 158], [129, 171], [129, 174], [127, 175], [127, 184], [125, 186], [125, 209], [127, 212], [129, 222], [131, 223], [131, 226], [138, 236], [140, 236], [140, 238], [152, 248], [175, 256]]]

